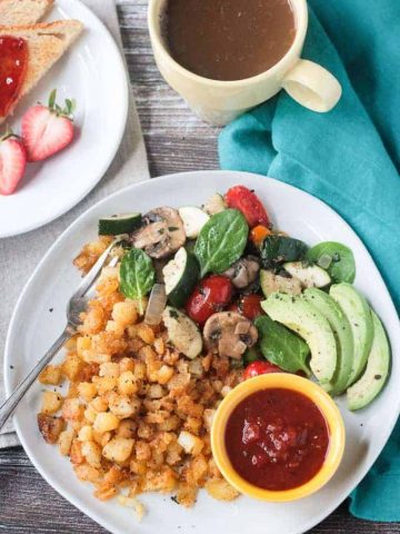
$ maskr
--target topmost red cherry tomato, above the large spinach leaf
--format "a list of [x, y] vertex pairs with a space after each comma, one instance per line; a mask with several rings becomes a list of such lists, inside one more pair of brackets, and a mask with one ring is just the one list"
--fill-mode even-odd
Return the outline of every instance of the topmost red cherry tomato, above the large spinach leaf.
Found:
[[229, 208], [239, 209], [244, 215], [250, 228], [257, 225], [270, 226], [269, 216], [261, 200], [247, 187], [234, 186], [229, 189], [226, 201]]

